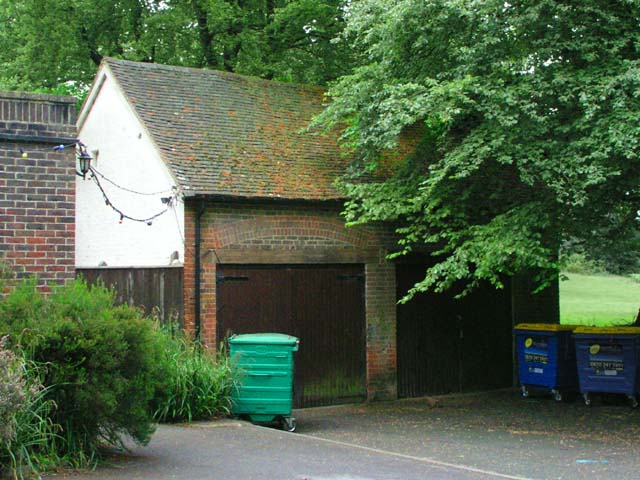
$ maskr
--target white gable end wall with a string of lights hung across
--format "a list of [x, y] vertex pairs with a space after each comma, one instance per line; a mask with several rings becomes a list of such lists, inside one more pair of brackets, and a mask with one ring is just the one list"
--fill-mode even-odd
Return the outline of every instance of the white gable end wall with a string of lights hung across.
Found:
[[[118, 185], [137, 192], [170, 190], [176, 184], [161, 160], [155, 145], [126, 102], [108, 69], [104, 81], [95, 85], [95, 97], [89, 99], [80, 116], [78, 137], [93, 151], [92, 165]], [[88, 110], [88, 111], [87, 111]], [[184, 208], [174, 203], [151, 225], [124, 219], [109, 207], [90, 175], [76, 181], [76, 267], [168, 266], [178, 252], [184, 260]], [[148, 218], [164, 210], [160, 198], [171, 192], [138, 195], [110, 184], [98, 176], [110, 202], [125, 215]]]

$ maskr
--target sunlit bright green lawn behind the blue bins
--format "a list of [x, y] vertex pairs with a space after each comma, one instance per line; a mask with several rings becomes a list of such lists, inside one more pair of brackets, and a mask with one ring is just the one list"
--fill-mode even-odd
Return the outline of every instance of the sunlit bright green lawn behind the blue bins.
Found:
[[560, 323], [624, 325], [640, 308], [640, 283], [615, 275], [565, 274], [560, 281]]

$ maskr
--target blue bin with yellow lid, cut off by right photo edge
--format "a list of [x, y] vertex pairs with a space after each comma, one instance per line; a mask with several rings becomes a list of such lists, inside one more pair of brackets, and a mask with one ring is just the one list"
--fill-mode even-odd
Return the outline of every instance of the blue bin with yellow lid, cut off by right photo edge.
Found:
[[637, 407], [640, 327], [577, 327], [573, 336], [584, 403], [591, 405], [592, 393], [616, 393]]

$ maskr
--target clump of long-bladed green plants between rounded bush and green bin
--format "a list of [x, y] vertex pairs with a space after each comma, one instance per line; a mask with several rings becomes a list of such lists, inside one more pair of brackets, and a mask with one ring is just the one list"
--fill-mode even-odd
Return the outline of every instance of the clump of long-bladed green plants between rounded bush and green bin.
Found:
[[168, 375], [155, 401], [158, 421], [191, 421], [228, 414], [233, 380], [224, 351], [216, 358], [175, 327], [165, 327], [160, 333]]

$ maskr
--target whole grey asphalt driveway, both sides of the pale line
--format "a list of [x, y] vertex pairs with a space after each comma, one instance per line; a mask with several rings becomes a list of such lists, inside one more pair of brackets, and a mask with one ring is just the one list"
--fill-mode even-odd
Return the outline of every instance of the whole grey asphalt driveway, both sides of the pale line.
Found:
[[[286, 433], [223, 420], [161, 426], [74, 479], [637, 479], [640, 411], [514, 390], [304, 409]], [[48, 478], [60, 478], [50, 476]]]

